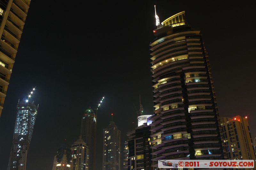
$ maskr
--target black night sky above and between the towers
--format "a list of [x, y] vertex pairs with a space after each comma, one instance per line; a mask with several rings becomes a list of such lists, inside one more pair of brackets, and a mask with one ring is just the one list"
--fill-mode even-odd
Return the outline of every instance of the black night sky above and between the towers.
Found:
[[64, 2], [31, 1], [0, 118], [0, 170], [8, 164], [16, 104], [34, 86], [39, 110], [27, 170], [52, 169], [64, 139], [70, 145], [76, 141], [84, 111], [104, 95], [97, 124], [96, 170], [102, 169], [102, 129], [110, 113], [122, 143], [136, 121], [139, 94], [144, 113], [153, 113], [149, 43], [154, 4], [160, 21], [186, 11], [188, 23], [202, 30], [220, 116], [247, 115], [256, 136], [254, 1]]

